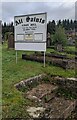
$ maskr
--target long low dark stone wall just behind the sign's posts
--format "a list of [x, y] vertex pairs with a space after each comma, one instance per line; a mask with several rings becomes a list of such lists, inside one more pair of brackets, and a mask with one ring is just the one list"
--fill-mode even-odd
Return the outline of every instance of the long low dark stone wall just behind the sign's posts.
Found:
[[[52, 57], [51, 54], [46, 54], [46, 63], [50, 65], [56, 65], [59, 67], [62, 67], [64, 69], [74, 69], [75, 68], [75, 61], [70, 59], [63, 59], [66, 56], [55, 56]], [[44, 62], [43, 54], [32, 54], [32, 55], [26, 55], [22, 54], [22, 59], [25, 60], [31, 60], [31, 61], [37, 61], [37, 62]]]

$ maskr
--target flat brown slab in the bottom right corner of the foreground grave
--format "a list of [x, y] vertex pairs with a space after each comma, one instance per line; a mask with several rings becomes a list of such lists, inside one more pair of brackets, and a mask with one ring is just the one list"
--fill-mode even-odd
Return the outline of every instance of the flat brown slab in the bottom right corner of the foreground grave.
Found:
[[66, 119], [76, 107], [76, 100], [55, 97], [41, 114], [43, 118]]

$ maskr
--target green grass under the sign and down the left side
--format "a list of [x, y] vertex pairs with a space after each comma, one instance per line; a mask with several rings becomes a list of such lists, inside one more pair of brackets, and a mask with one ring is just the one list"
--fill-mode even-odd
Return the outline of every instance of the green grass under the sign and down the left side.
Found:
[[23, 92], [18, 91], [14, 84], [42, 73], [63, 77], [75, 76], [74, 70], [66, 71], [60, 67], [47, 64], [44, 68], [42, 63], [22, 60], [22, 53], [31, 54], [32, 52], [18, 51], [18, 63], [16, 64], [15, 50], [7, 49], [7, 44], [2, 47], [3, 118], [26, 118], [28, 117], [26, 107], [33, 105], [31, 101], [23, 97]]

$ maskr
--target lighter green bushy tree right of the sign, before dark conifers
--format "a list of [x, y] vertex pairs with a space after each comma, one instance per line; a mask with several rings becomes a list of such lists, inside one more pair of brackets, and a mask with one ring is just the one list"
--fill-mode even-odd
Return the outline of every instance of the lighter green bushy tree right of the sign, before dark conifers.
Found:
[[53, 43], [61, 44], [62, 46], [66, 46], [67, 37], [66, 37], [65, 30], [63, 27], [61, 27], [61, 26], [56, 27], [56, 32], [53, 35]]

